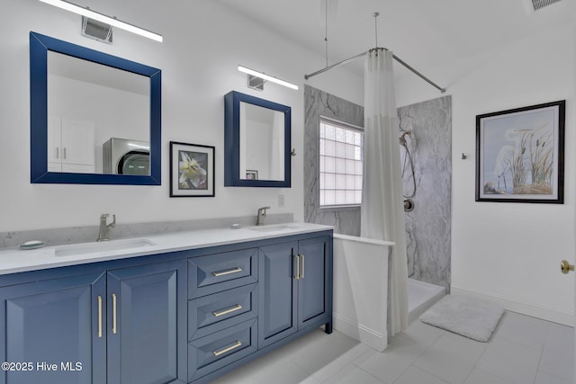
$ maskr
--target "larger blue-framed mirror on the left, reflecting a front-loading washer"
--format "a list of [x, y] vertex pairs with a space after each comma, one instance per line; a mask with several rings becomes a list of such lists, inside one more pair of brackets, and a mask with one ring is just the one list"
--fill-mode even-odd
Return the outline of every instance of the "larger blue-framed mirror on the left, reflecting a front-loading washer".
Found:
[[161, 183], [160, 69], [30, 32], [31, 183]]

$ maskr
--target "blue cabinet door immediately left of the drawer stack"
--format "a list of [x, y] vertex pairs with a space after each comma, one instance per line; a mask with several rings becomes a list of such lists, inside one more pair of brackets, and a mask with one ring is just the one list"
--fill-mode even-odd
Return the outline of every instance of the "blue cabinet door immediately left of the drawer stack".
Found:
[[108, 382], [186, 380], [186, 261], [108, 272]]

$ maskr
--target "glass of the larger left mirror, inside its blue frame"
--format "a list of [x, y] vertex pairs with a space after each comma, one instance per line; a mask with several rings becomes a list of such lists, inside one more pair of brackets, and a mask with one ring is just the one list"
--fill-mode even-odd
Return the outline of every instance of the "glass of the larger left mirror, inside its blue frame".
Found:
[[[118, 174], [122, 172], [118, 168], [121, 156], [125, 155], [112, 155], [111, 148], [107, 153], [111, 158], [104, 160], [104, 144], [111, 138], [126, 138], [144, 143], [140, 152], [148, 152], [149, 127], [147, 76], [48, 52], [50, 172], [73, 169], [78, 173]], [[121, 151], [115, 141], [109, 145]], [[147, 164], [134, 167], [134, 173], [141, 169], [139, 174], [149, 175], [149, 158], [143, 153], [140, 156]]]

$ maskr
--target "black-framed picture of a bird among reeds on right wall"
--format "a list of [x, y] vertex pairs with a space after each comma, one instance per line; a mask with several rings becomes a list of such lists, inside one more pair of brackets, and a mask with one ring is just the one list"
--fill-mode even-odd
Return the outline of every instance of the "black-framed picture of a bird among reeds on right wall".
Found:
[[476, 201], [563, 204], [565, 104], [476, 116]]

